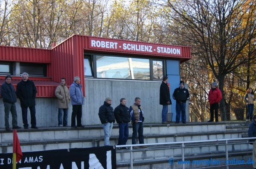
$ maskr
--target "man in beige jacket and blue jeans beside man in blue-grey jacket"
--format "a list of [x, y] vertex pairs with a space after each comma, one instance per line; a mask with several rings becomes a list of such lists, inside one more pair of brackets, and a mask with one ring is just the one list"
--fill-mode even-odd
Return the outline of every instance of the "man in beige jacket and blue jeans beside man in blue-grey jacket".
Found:
[[[68, 102], [70, 101], [69, 90], [66, 86], [66, 79], [61, 78], [61, 85], [55, 90], [55, 96], [58, 98], [58, 127], [69, 127], [67, 124]], [[63, 112], [63, 125], [62, 125]]]

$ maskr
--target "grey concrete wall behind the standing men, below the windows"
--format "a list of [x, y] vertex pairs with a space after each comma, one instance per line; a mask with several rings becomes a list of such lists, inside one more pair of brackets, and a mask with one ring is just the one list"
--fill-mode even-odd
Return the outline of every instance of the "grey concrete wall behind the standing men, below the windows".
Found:
[[[106, 97], [111, 97], [112, 107], [120, 104], [120, 99], [125, 98], [127, 107], [134, 103], [135, 97], [140, 97], [145, 114], [145, 123], [161, 123], [162, 105], [159, 104], [159, 89], [162, 81], [124, 81], [86, 79], [86, 97], [82, 111], [82, 124], [101, 124], [98, 116], [99, 107]], [[36, 118], [38, 127], [58, 126], [57, 98], [36, 98]], [[68, 111], [68, 124], [71, 124], [72, 105], [70, 102]], [[18, 126], [23, 127], [20, 101], [16, 103]], [[0, 98], [0, 128], [4, 128], [4, 106]], [[30, 112], [28, 111], [30, 125]], [[9, 115], [9, 124], [12, 127], [12, 116]]]

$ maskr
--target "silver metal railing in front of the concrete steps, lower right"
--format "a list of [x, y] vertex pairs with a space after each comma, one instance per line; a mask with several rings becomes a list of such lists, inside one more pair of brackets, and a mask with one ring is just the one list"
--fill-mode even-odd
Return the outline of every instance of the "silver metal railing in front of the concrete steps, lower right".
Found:
[[[184, 146], [184, 144], [189, 144], [189, 143], [202, 143], [202, 142], [218, 142], [218, 141], [225, 141], [225, 152], [226, 152], [226, 161], [228, 161], [228, 141], [235, 141], [235, 140], [247, 140], [244, 142], [239, 142], [239, 143], [235, 143], [235, 144], [244, 144], [244, 143], [248, 143], [249, 139], [256, 139], [256, 137], [251, 137], [251, 138], [227, 138], [227, 139], [216, 139], [216, 140], [202, 140], [202, 141], [180, 141], [180, 142], [169, 142], [169, 143], [152, 143], [152, 144], [128, 144], [128, 145], [116, 145], [116, 148], [118, 147], [130, 147], [130, 165], [131, 165], [131, 169], [133, 169], [133, 146], [157, 146], [157, 145], [170, 145], [170, 144], [181, 144], [181, 155], [182, 155], [182, 161], [184, 161], [185, 159], [185, 155], [184, 155], [184, 148], [186, 148], [186, 146]], [[208, 144], [207, 144], [208, 145]], [[204, 144], [204, 146], [206, 146]], [[209, 146], [213, 146], [213, 145], [209, 145]], [[224, 166], [224, 165], [222, 165]], [[225, 166], [227, 166], [227, 169], [229, 169], [229, 164], [226, 164]], [[185, 169], [185, 163], [182, 164], [182, 169]]]

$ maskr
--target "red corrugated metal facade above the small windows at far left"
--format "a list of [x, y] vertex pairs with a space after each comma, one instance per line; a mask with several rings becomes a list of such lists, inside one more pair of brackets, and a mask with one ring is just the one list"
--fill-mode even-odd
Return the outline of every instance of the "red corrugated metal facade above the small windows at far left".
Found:
[[0, 60], [12, 62], [51, 63], [48, 49], [0, 46]]

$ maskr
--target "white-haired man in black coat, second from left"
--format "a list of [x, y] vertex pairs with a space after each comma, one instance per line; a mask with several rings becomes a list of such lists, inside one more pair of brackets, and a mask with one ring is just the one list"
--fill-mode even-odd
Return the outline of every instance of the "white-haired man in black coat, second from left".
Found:
[[28, 107], [30, 110], [31, 116], [31, 128], [38, 129], [36, 127], [36, 118], [35, 118], [35, 96], [37, 93], [34, 82], [29, 80], [28, 73], [21, 74], [22, 80], [17, 84], [17, 97], [20, 99], [20, 107], [22, 112], [22, 121], [24, 129], [29, 129], [28, 124]]

